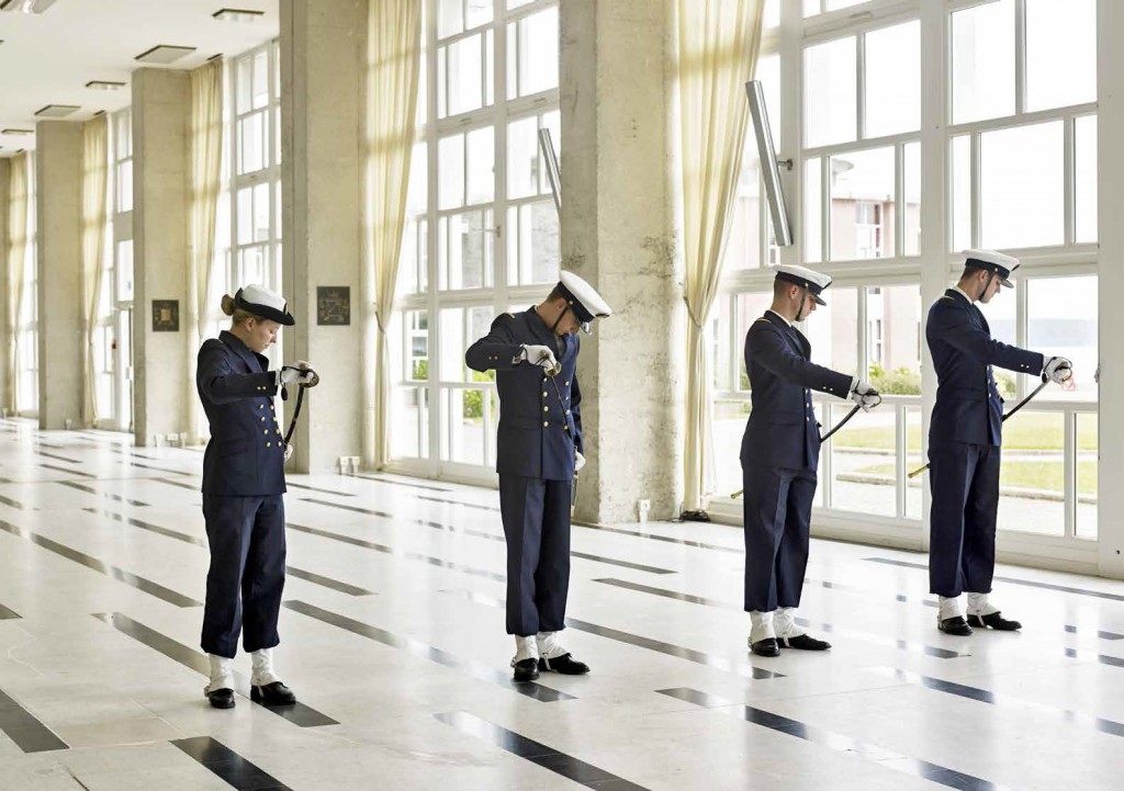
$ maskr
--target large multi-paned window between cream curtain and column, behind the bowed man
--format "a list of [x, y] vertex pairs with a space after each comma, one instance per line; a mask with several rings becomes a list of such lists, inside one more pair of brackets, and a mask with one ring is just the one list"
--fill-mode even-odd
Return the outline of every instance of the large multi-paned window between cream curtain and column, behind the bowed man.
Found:
[[538, 133], [561, 157], [556, 0], [426, 0], [399, 306], [391, 456], [427, 474], [495, 465], [493, 374], [464, 351], [559, 273], [559, 218]]

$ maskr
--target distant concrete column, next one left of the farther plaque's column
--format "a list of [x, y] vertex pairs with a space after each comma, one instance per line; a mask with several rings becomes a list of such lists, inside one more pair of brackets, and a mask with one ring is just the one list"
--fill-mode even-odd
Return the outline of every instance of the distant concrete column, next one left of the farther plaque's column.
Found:
[[[39, 428], [82, 419], [82, 125], [39, 121], [36, 262]], [[29, 208], [30, 210], [30, 208]]]

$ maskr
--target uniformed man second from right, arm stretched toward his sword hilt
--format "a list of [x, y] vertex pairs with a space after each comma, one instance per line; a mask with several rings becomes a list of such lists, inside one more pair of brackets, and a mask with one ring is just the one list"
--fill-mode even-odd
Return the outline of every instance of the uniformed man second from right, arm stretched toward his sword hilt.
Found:
[[794, 327], [831, 285], [804, 266], [774, 267], [772, 307], [745, 334], [745, 372], [752, 411], [742, 437], [745, 498], [745, 610], [750, 648], [778, 656], [780, 647], [826, 651], [831, 645], [796, 625], [808, 522], [816, 494], [819, 434], [812, 391], [851, 398], [863, 409], [880, 398], [868, 383], [809, 362], [812, 345]]

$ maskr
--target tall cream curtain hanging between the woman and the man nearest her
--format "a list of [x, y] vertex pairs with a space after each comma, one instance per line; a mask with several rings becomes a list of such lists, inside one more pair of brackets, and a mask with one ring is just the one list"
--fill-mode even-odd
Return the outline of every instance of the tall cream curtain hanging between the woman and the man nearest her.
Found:
[[387, 333], [395, 310], [410, 154], [417, 131], [422, 0], [372, 2], [368, 34], [363, 296], [364, 304], [374, 303], [375, 326], [369, 325], [363, 336], [368, 371], [368, 415], [363, 422], [364, 427], [372, 424], [365, 428], [364, 461], [381, 467], [390, 458], [393, 374]]

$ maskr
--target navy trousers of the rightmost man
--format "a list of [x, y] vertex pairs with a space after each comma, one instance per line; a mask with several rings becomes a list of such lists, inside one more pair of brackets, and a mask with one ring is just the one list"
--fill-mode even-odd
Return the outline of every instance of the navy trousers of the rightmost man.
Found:
[[998, 445], [940, 443], [928, 449], [928, 589], [943, 597], [990, 593], [999, 512]]

